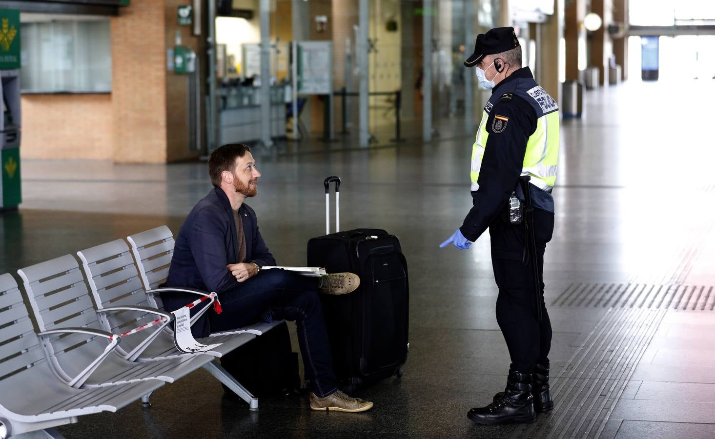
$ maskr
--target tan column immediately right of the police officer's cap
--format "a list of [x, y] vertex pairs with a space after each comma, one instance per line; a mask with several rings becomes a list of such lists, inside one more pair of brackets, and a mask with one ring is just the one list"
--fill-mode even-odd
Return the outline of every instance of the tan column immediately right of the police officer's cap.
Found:
[[558, 74], [561, 70], [559, 42], [563, 35], [563, 0], [554, 2], [553, 15], [549, 16], [545, 23], [536, 26], [536, 45], [539, 53], [536, 69], [538, 83], [561, 104], [561, 81]]

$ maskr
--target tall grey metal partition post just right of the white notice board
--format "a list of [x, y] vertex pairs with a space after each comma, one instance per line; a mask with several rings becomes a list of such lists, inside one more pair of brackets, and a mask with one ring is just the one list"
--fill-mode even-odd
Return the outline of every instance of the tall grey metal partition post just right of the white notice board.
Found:
[[360, 147], [367, 148], [370, 144], [370, 60], [368, 59], [368, 31], [370, 30], [370, 0], [360, 0], [358, 41], [355, 41], [355, 56], [358, 59], [360, 85], [358, 87], [358, 112], [360, 113], [359, 141]]

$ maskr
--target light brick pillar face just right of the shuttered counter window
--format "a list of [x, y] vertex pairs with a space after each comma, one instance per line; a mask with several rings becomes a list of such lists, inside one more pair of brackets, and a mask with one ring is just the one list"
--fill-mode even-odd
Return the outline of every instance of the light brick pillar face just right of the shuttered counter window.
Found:
[[165, 2], [132, 1], [119, 14], [112, 17], [114, 161], [166, 162]]

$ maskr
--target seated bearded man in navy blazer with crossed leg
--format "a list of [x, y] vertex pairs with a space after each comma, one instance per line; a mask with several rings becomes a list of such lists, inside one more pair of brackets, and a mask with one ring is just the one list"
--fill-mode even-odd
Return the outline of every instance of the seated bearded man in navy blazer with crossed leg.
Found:
[[[351, 292], [360, 279], [352, 273], [305, 277], [280, 269], [261, 270], [275, 265], [275, 259], [263, 242], [255, 212], [244, 204], [257, 193], [260, 175], [244, 144], [227, 144], [212, 152], [209, 176], [215, 187], [194, 206], [179, 230], [166, 285], [217, 292], [223, 311], [209, 310], [194, 322], [194, 337], [260, 320], [295, 320], [305, 380], [312, 390], [310, 408], [370, 410], [373, 403], [337, 390], [317, 297], [318, 291]], [[188, 293], [162, 295], [167, 310], [177, 310], [194, 299]]]

